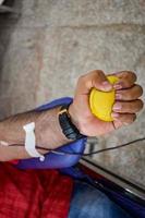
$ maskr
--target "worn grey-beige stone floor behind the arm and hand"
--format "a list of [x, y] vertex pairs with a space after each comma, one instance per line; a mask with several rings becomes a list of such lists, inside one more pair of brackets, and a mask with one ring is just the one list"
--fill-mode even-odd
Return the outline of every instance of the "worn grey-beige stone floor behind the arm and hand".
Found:
[[[15, 0], [0, 14], [0, 117], [61, 96], [92, 69], [133, 70], [145, 87], [145, 1]], [[131, 126], [99, 138], [111, 146], [145, 135], [145, 111]], [[144, 143], [95, 156], [117, 173], [145, 183]]]

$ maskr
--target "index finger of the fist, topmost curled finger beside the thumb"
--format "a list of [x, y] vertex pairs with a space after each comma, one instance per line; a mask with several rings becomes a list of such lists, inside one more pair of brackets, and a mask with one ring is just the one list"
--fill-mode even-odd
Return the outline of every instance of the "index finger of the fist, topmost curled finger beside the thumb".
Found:
[[136, 82], [136, 74], [131, 71], [121, 71], [113, 75], [119, 77], [119, 82], [113, 85], [116, 89], [130, 88]]

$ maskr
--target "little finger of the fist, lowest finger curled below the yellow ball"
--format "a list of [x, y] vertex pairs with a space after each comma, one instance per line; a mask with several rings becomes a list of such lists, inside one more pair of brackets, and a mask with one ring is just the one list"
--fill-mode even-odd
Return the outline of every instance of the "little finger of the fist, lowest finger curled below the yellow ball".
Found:
[[114, 128], [121, 128], [122, 125], [129, 125], [131, 123], [133, 123], [136, 119], [136, 114], [135, 113], [112, 113], [111, 114], [113, 118], [113, 124]]

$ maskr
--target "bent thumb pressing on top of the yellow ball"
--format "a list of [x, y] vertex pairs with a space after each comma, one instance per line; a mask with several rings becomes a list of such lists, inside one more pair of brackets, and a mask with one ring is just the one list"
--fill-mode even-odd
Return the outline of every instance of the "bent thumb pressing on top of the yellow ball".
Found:
[[76, 93], [88, 94], [93, 87], [99, 90], [108, 92], [112, 88], [112, 85], [109, 83], [102, 71], [95, 70], [78, 78]]

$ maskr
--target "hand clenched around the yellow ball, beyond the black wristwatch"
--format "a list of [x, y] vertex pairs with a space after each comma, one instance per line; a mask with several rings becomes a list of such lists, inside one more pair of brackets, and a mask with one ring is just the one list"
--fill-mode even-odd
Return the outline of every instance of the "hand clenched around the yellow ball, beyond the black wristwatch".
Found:
[[84, 135], [102, 135], [114, 129], [131, 124], [136, 119], [136, 112], [143, 108], [144, 104], [138, 99], [143, 94], [143, 88], [135, 84], [136, 75], [130, 71], [111, 75], [119, 77], [119, 82], [113, 85], [116, 89], [116, 102], [111, 113], [113, 122], [99, 120], [92, 113], [89, 108], [89, 93], [93, 87], [102, 92], [109, 92], [112, 88], [105, 73], [100, 70], [94, 70], [78, 78], [69, 113], [72, 122]]

